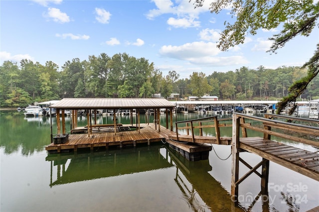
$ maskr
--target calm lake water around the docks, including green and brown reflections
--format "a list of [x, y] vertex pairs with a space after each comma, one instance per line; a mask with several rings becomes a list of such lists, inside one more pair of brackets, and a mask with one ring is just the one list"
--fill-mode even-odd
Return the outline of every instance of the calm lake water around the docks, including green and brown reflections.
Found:
[[[177, 114], [176, 119], [203, 116]], [[128, 117], [119, 119], [129, 123]], [[97, 122], [113, 123], [108, 116]], [[78, 118], [79, 126], [86, 123]], [[231, 136], [231, 129], [223, 128], [221, 135]], [[1, 212], [303, 212], [319, 206], [318, 181], [270, 162], [269, 206], [254, 201], [260, 178], [253, 174], [240, 184], [241, 208], [233, 208], [226, 145], [213, 145], [208, 160], [191, 162], [164, 143], [48, 155], [49, 143], [49, 118], [0, 111]], [[261, 161], [251, 153], [241, 157], [251, 166]], [[247, 170], [241, 166], [240, 176]]]

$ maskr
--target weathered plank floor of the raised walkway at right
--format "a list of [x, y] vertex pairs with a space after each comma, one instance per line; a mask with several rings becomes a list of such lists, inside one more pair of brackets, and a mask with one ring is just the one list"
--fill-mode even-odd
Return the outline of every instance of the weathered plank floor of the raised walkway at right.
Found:
[[319, 181], [319, 154], [260, 137], [240, 138], [239, 147]]

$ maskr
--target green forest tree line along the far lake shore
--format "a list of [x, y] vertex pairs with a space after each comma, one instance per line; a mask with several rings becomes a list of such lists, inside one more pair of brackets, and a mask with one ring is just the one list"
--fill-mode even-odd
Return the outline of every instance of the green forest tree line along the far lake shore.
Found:
[[[0, 106], [23, 107], [33, 102], [61, 98], [166, 98], [179, 93], [188, 96], [215, 95], [220, 100], [278, 100], [289, 87], [307, 75], [307, 68], [280, 67], [256, 70], [193, 72], [180, 79], [176, 71], [163, 75], [154, 63], [126, 53], [109, 57], [106, 53], [67, 61], [59, 70], [51, 61], [41, 65], [30, 60], [20, 64], [5, 61], [0, 66]], [[319, 98], [319, 77], [312, 80], [303, 99]]]

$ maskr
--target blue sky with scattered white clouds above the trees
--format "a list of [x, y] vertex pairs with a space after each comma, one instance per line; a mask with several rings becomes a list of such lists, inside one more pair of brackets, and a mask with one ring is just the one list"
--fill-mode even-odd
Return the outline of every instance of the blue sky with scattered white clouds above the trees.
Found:
[[318, 27], [297, 37], [277, 54], [266, 52], [280, 29], [258, 30], [226, 52], [216, 47], [229, 10], [211, 13], [206, 0], [0, 0], [0, 64], [22, 59], [59, 70], [67, 61], [106, 53], [145, 58], [163, 75], [236, 71], [241, 67], [276, 69], [302, 66], [319, 43]]

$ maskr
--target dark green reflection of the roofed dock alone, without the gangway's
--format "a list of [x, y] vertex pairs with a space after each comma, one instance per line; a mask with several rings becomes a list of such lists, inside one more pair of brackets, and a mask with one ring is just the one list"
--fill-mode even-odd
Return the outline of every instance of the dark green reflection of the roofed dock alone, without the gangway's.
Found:
[[[50, 154], [46, 160], [51, 162], [50, 187], [173, 166], [160, 156], [159, 146], [155, 145], [84, 153]], [[53, 169], [52, 165], [56, 166], [56, 169]]]

